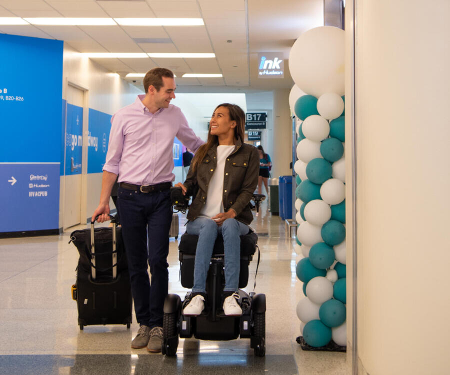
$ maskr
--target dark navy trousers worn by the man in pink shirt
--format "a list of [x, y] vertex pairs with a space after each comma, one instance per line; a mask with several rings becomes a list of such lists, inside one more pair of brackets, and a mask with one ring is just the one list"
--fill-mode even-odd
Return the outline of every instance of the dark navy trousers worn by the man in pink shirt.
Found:
[[168, 290], [170, 190], [141, 193], [119, 187], [117, 209], [137, 323], [162, 327], [162, 307]]

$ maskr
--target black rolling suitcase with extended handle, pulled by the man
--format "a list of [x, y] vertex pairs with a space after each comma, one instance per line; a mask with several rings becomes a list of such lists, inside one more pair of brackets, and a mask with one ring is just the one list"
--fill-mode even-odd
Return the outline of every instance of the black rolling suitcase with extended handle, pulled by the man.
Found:
[[78, 306], [78, 325], [131, 324], [132, 298], [120, 227], [76, 230], [70, 241], [79, 259], [72, 298]]

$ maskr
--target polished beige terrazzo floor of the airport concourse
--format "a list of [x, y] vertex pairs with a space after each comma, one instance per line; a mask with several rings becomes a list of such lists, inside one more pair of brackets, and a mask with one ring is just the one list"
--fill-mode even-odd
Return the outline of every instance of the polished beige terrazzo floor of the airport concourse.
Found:
[[[255, 214], [254, 214], [255, 215]], [[180, 233], [184, 231], [180, 215]], [[70, 287], [78, 254], [68, 244], [70, 228], [59, 236], [0, 239], [0, 374], [350, 374], [351, 356], [303, 352], [295, 314], [303, 298], [295, 276], [294, 239], [263, 202], [252, 227], [260, 233], [261, 259], [256, 293], [265, 293], [266, 356], [257, 358], [248, 339], [180, 339], [177, 356], [166, 358], [130, 349], [138, 325], [77, 326]], [[253, 290], [256, 258], [247, 292]], [[179, 281], [177, 240], [170, 239], [169, 292], [186, 293]]]

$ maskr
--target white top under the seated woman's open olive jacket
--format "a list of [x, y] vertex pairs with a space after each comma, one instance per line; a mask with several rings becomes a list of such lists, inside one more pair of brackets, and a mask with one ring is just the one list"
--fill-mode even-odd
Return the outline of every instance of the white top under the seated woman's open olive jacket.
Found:
[[217, 166], [209, 180], [206, 193], [206, 203], [200, 211], [199, 216], [211, 218], [223, 210], [223, 173], [225, 171], [225, 160], [234, 150], [234, 145], [217, 146]]

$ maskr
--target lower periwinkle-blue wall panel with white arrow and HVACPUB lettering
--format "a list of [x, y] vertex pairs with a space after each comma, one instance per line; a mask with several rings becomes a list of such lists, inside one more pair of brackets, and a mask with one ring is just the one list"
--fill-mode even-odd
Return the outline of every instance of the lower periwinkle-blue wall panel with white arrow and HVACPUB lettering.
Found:
[[58, 228], [59, 163], [0, 163], [0, 232]]

